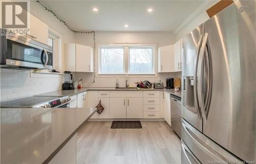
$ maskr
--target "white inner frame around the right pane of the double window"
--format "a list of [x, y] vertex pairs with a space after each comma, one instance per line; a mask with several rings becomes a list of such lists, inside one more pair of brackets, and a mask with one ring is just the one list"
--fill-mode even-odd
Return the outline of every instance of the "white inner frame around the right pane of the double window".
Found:
[[[131, 54], [130, 54], [130, 49], [152, 49], [152, 65], [151, 65], [151, 73], [131, 73], [131, 69], [130, 69], [130, 57], [131, 57]], [[127, 69], [127, 74], [135, 74], [135, 75], [145, 75], [145, 74], [152, 74], [154, 75], [155, 74], [155, 47], [154, 46], [129, 46], [129, 53], [128, 53], [128, 69]]]

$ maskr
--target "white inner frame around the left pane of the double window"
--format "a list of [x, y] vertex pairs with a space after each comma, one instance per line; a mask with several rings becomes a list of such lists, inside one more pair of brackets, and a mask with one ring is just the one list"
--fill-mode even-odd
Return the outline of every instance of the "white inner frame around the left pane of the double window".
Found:
[[[114, 48], [120, 48], [123, 49], [123, 73], [101, 73], [101, 49], [114, 49]], [[102, 74], [102, 75], [122, 75], [125, 74], [125, 47], [124, 46], [99, 46], [99, 64], [98, 64], [98, 74]]]

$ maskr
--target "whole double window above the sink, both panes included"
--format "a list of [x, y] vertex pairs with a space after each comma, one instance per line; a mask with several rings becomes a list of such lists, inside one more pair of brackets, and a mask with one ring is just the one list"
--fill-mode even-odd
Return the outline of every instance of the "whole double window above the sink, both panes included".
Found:
[[98, 74], [154, 74], [154, 52], [142, 44], [99, 46]]

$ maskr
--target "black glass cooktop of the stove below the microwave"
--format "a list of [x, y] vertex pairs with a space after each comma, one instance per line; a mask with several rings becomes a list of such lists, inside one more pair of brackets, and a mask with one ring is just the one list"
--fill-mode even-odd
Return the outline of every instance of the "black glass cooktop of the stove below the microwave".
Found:
[[31, 96], [16, 100], [0, 102], [0, 107], [32, 107], [34, 105], [52, 101], [61, 97], [62, 96]]

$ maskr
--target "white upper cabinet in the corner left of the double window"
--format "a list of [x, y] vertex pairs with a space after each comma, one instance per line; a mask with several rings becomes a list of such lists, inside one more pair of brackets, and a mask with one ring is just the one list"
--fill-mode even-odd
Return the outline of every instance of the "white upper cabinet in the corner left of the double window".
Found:
[[93, 72], [93, 48], [80, 44], [67, 44], [66, 71]]

